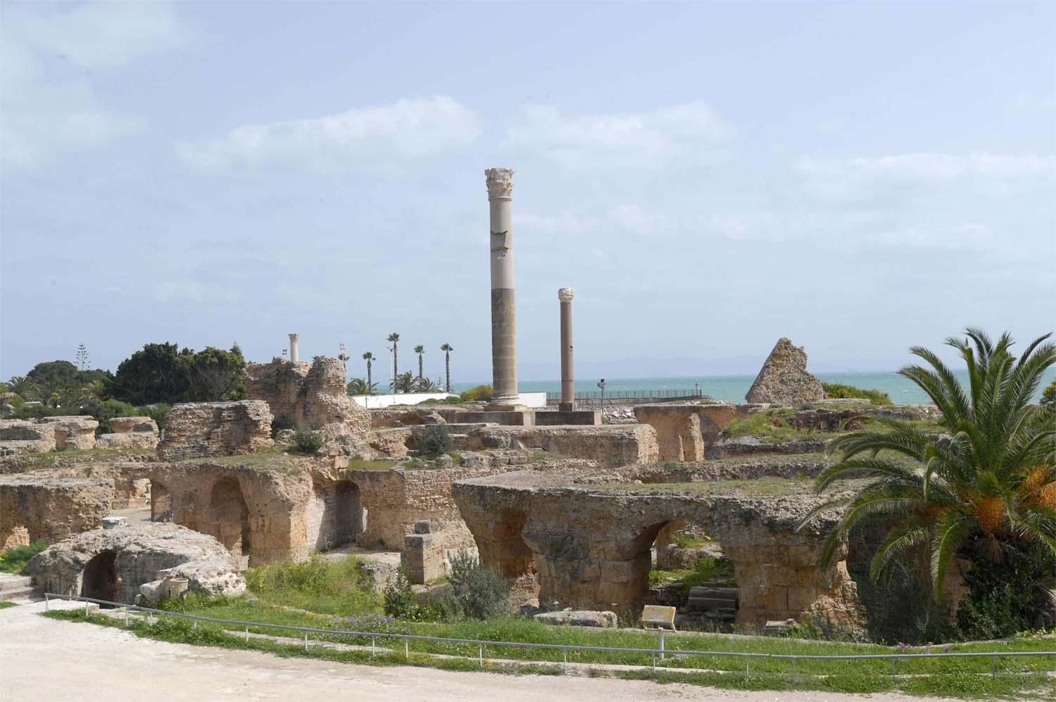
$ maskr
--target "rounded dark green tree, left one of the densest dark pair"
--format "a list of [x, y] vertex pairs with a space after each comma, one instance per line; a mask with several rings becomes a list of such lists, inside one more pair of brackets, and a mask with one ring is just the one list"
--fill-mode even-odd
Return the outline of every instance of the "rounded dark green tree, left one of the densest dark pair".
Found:
[[182, 402], [191, 385], [187, 363], [192, 357], [191, 349], [174, 343], [146, 344], [117, 366], [111, 395], [132, 404]]

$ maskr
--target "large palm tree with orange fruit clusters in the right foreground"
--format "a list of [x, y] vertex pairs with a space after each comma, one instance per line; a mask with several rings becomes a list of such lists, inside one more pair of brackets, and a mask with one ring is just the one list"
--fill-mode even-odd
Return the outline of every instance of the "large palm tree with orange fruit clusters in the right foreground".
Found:
[[930, 367], [899, 371], [939, 407], [940, 431], [881, 419], [882, 431], [852, 432], [829, 444], [843, 455], [817, 477], [819, 492], [848, 478], [873, 480], [804, 520], [846, 505], [823, 566], [852, 529], [870, 520], [888, 532], [870, 577], [878, 580], [914, 547], [925, 548], [937, 600], [955, 555], [997, 563], [1003, 550], [1033, 545], [1056, 554], [1056, 405], [1031, 404], [1042, 375], [1056, 363], [1056, 346], [1042, 343], [1045, 335], [1017, 360], [1008, 334], [996, 344], [979, 329], [966, 334], [968, 339], [946, 343], [967, 365], [967, 392], [936, 354], [920, 346], [910, 352]]

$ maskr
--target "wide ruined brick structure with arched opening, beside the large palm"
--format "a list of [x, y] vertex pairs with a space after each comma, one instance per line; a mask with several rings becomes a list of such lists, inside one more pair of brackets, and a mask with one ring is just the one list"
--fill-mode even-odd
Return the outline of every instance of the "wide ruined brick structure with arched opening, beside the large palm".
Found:
[[857, 616], [846, 547], [831, 567], [818, 565], [834, 516], [797, 530], [821, 500], [807, 485], [789, 486], [795, 494], [782, 497], [743, 483], [664, 490], [576, 479], [507, 473], [452, 487], [482, 561], [511, 581], [535, 573], [541, 602], [639, 611], [648, 592], [650, 548], [661, 530], [696, 525], [734, 564], [738, 623], [761, 628], [768, 620], [809, 613], [833, 622]]

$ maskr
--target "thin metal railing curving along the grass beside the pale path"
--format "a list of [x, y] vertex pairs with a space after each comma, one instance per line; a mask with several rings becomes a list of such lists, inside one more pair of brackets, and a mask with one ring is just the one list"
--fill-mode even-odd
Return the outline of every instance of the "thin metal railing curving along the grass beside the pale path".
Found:
[[[664, 647], [664, 634], [677, 634], [675, 631], [665, 631], [664, 629], [657, 629], [657, 647], [656, 648], [630, 648], [621, 646], [585, 646], [582, 644], [539, 644], [539, 643], [528, 643], [518, 641], [486, 641], [482, 639], [451, 639], [448, 637], [426, 637], [421, 634], [414, 633], [391, 633], [391, 632], [379, 632], [379, 631], [355, 631], [346, 629], [318, 629], [314, 627], [303, 627], [303, 626], [291, 626], [288, 624], [268, 624], [265, 622], [245, 622], [241, 620], [225, 620], [225, 619], [214, 619], [211, 616], [202, 616], [201, 614], [188, 614], [187, 612], [176, 612], [167, 609], [154, 609], [151, 607], [140, 607], [139, 605], [127, 605], [120, 602], [111, 602], [109, 600], [96, 600], [94, 597], [81, 597], [72, 594], [59, 594], [55, 592], [44, 593], [44, 609], [48, 610], [51, 607], [51, 600], [65, 600], [73, 602], [83, 602], [86, 603], [84, 610], [88, 611], [89, 604], [108, 605], [113, 607], [125, 608], [126, 618], [125, 624], [128, 625], [128, 612], [130, 610], [147, 612], [150, 614], [158, 614], [164, 616], [174, 616], [178, 619], [193, 620], [195, 622], [209, 622], [212, 624], [226, 624], [232, 626], [239, 626], [245, 628], [246, 641], [249, 640], [249, 629], [250, 628], [263, 628], [263, 629], [277, 629], [282, 631], [298, 631], [304, 634], [304, 646], [307, 650], [309, 633], [320, 633], [327, 635], [343, 635], [343, 637], [355, 637], [358, 639], [371, 639], [371, 649], [375, 648], [375, 642], [378, 639], [394, 639], [397, 641], [404, 642], [404, 656], [410, 657], [410, 648], [408, 646], [409, 642], [412, 641], [431, 641], [448, 644], [464, 644], [479, 647], [479, 661], [480, 665], [484, 665], [484, 647], [509, 647], [509, 648], [535, 648], [535, 649], [549, 649], [549, 650], [560, 650], [564, 652], [564, 663], [568, 664], [568, 651], [590, 651], [590, 652], [618, 652], [618, 653], [645, 653], [653, 656], [653, 667], [656, 667], [657, 657], [660, 660], [664, 660], [666, 656], [710, 656], [710, 657], [733, 657], [733, 658], [743, 658], [744, 659], [744, 672], [749, 673], [749, 666], [752, 659], [769, 659], [769, 660], [786, 660], [792, 661], [794, 664], [798, 661], [860, 661], [860, 660], [890, 660], [891, 661], [891, 675], [897, 675], [895, 666], [899, 661], [905, 660], [916, 660], [916, 659], [945, 659], [945, 658], [989, 658], [991, 659], [991, 673], [997, 675], [997, 659], [998, 658], [1022, 658], [1022, 657], [1037, 657], [1037, 656], [1050, 656], [1056, 657], [1056, 648], [1048, 651], [962, 651], [962, 652], [924, 652], [924, 653], [835, 653], [835, 654], [819, 654], [819, 653], [756, 653], [750, 651], [708, 651], [708, 650], [687, 650], [687, 649], [671, 649]], [[385, 649], [396, 652], [395, 649]], [[526, 663], [539, 663], [540, 661], [526, 661]], [[642, 666], [644, 667], [644, 666]], [[798, 669], [798, 668], [797, 668]], [[948, 671], [955, 675], [964, 675], [963, 670], [950, 670]]]

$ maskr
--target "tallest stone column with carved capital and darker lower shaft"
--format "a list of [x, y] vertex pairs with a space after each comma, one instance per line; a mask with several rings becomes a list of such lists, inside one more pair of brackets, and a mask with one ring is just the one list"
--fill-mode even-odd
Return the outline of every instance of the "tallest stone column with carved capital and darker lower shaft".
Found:
[[491, 208], [491, 378], [492, 409], [514, 409], [517, 394], [516, 314], [513, 302], [513, 228], [510, 201], [513, 170], [484, 172]]

